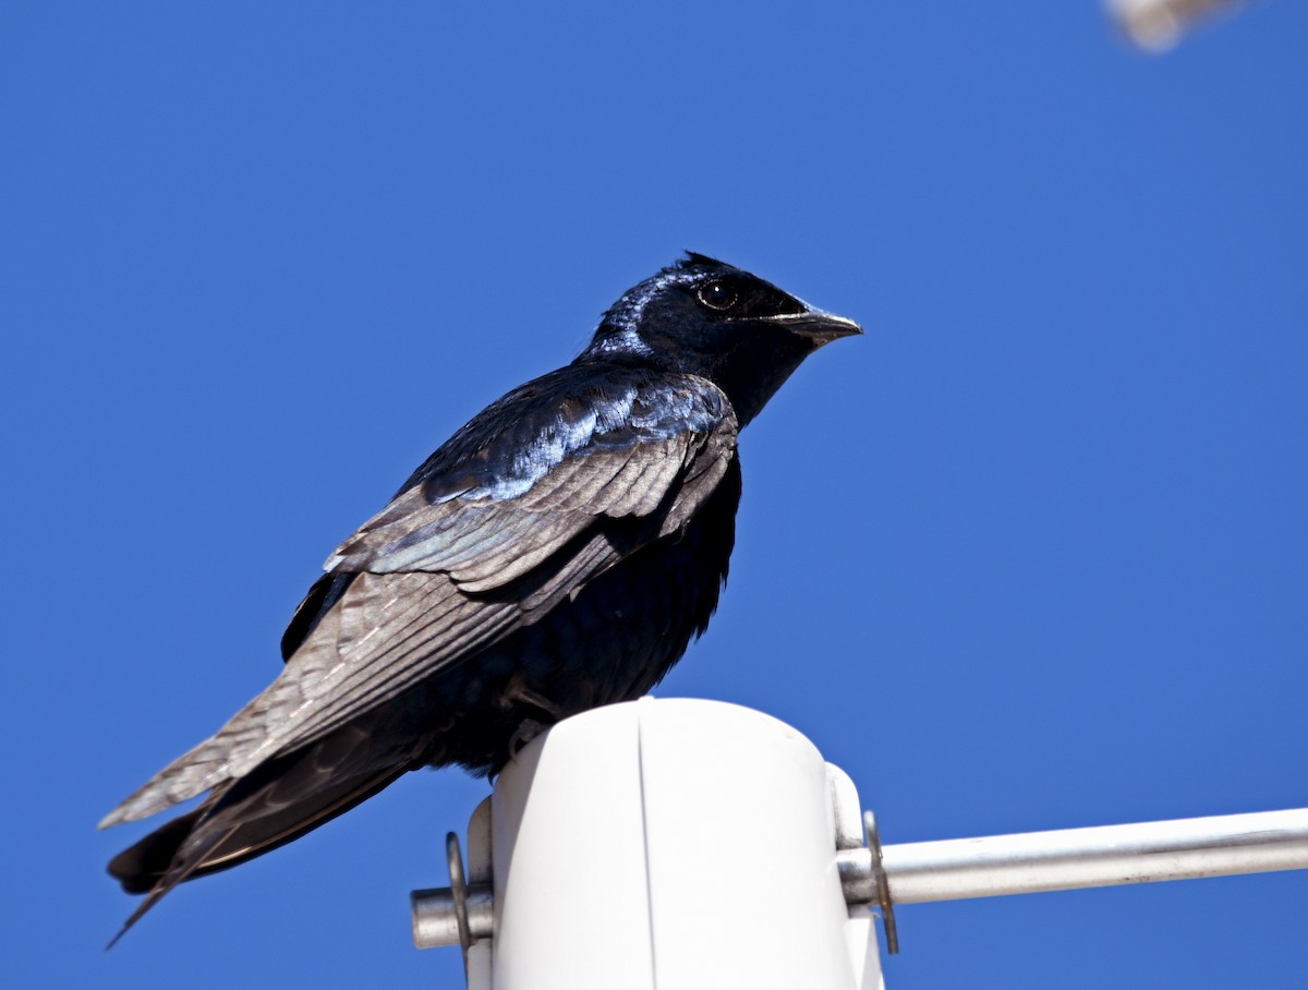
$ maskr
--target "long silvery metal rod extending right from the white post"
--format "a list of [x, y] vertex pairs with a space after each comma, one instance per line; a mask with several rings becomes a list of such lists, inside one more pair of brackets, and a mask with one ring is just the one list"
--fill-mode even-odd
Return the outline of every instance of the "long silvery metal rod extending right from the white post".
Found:
[[[869, 850], [838, 857], [846, 898], [875, 902]], [[892, 904], [1304, 870], [1308, 808], [903, 842], [882, 862]]]

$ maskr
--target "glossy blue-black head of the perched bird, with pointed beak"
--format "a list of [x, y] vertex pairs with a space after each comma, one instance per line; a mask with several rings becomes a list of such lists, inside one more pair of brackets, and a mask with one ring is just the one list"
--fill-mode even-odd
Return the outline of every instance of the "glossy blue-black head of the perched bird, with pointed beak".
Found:
[[808, 354], [862, 332], [749, 272], [688, 252], [628, 289], [577, 360], [702, 375], [744, 425]]

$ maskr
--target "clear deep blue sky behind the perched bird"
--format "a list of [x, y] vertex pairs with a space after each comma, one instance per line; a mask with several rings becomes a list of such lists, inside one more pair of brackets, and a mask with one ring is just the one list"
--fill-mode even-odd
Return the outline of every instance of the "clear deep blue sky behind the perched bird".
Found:
[[[1308, 8], [0, 12], [9, 986], [456, 986], [411, 774], [131, 909], [97, 834], [279, 670], [319, 562], [683, 248], [861, 320], [742, 442], [663, 694], [887, 842], [1308, 804]], [[1308, 874], [909, 906], [891, 990], [1301, 986]], [[759, 905], [765, 910], [765, 905]]]

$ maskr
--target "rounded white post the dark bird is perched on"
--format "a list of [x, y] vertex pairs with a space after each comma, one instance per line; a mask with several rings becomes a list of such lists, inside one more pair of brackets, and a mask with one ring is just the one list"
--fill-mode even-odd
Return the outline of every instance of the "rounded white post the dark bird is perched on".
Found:
[[[489, 909], [492, 938], [467, 953], [470, 987], [880, 990], [872, 915], [836, 864], [836, 774], [735, 705], [642, 698], [561, 722], [473, 816], [467, 930], [484, 936]], [[417, 892], [419, 944], [458, 944], [451, 914], [451, 892]]]

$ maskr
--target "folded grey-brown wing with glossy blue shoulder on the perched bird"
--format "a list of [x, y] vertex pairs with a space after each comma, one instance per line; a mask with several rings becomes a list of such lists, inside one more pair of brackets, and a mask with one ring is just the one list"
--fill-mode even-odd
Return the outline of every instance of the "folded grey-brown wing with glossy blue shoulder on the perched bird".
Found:
[[532, 386], [511, 418], [518, 394], [341, 544], [327, 570], [354, 577], [277, 680], [102, 827], [239, 778], [530, 624], [684, 527], [735, 456], [735, 415], [704, 379]]

